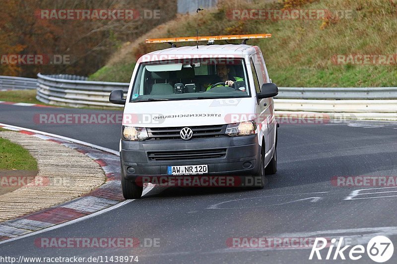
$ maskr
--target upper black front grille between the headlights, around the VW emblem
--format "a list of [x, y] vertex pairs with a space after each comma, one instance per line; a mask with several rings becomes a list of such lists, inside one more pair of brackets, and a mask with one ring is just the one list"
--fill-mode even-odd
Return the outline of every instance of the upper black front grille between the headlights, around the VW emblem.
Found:
[[[210, 125], [210, 126], [189, 126], [193, 130], [194, 138], [217, 138], [225, 134], [227, 125]], [[149, 139], [164, 140], [164, 139], [181, 139], [181, 127], [151, 127], [147, 128]]]

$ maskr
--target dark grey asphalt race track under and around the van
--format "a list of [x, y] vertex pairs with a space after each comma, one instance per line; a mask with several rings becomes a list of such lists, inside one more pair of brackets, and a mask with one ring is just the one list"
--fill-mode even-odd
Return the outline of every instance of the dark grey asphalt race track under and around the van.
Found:
[[[0, 122], [118, 150], [118, 125], [41, 125], [35, 113], [91, 110], [0, 105]], [[281, 124], [278, 172], [262, 190], [155, 187], [115, 210], [0, 245], [1, 256], [138, 256], [138, 263], [323, 263], [310, 249], [232, 248], [231, 238], [344, 237], [366, 246], [385, 235], [397, 245], [397, 188], [336, 187], [333, 176], [397, 175], [397, 123]], [[368, 187], [366, 187], [368, 188]], [[374, 187], [375, 188], [375, 187]], [[354, 196], [354, 193], [367, 195]], [[347, 197], [352, 199], [345, 200]], [[365, 199], [355, 199], [365, 198]], [[37, 238], [134, 237], [159, 247], [40, 248]], [[363, 242], [364, 241], [364, 242]], [[348, 249], [349, 250], [349, 249]], [[347, 250], [347, 251], [348, 251]], [[335, 249], [333, 249], [333, 252]], [[344, 254], [348, 259], [348, 253]], [[333, 257], [333, 253], [331, 258]], [[105, 257], [103, 257], [105, 258]], [[103, 261], [105, 259], [102, 259]], [[367, 254], [359, 261], [374, 263]], [[397, 252], [387, 263], [397, 263]]]

